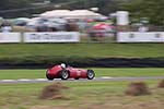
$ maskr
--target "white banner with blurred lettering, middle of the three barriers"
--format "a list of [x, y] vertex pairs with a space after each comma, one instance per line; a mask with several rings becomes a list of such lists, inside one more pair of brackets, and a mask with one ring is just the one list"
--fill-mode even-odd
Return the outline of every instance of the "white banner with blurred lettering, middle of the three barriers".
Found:
[[24, 33], [24, 43], [78, 43], [78, 32]]

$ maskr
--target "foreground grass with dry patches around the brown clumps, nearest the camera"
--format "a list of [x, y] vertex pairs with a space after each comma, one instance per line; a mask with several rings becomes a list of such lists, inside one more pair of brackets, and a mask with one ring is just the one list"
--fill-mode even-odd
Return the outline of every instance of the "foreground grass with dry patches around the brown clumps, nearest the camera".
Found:
[[70, 87], [62, 94], [67, 100], [38, 99], [40, 84], [1, 84], [1, 109], [163, 109], [164, 92], [156, 87], [159, 81], [147, 81], [152, 95], [131, 97], [124, 94], [128, 82], [63, 82]]

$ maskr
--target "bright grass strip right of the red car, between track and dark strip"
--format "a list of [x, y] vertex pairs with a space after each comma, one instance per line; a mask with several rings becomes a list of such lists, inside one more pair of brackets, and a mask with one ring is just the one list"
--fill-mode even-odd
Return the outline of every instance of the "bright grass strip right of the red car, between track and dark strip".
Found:
[[112, 68], [94, 69], [97, 76], [164, 76], [164, 69], [159, 68]]

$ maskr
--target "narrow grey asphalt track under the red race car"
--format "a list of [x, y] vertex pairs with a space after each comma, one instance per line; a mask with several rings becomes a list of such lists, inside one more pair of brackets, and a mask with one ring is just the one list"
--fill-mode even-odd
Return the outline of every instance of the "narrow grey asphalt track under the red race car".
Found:
[[110, 77], [110, 76], [102, 76], [95, 77], [94, 80], [67, 80], [62, 81], [60, 78], [55, 78], [54, 81], [48, 81], [47, 78], [20, 78], [20, 80], [0, 80], [0, 83], [50, 83], [50, 82], [94, 82], [94, 81], [149, 81], [149, 80], [163, 80], [164, 76], [142, 76], [142, 77]]

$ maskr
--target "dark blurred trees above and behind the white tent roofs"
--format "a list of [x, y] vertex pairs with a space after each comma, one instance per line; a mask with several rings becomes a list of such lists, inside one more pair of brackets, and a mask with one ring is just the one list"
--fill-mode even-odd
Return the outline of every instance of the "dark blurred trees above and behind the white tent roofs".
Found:
[[[35, 7], [36, 9], [27, 9], [34, 8], [32, 3], [37, 1], [38, 0], [1, 0], [0, 16], [4, 17], [31, 16], [32, 14], [42, 13], [47, 10], [54, 10], [55, 9], [54, 5], [56, 4], [61, 5], [61, 8], [57, 9], [69, 9], [69, 10], [77, 10], [77, 9], [90, 10], [90, 8], [96, 7], [99, 9], [98, 12], [108, 15], [110, 12], [114, 12], [118, 9], [117, 1], [119, 0], [51, 0], [51, 3], [46, 4], [45, 7], [36, 5]], [[15, 9], [27, 9], [27, 10], [14, 11]], [[5, 12], [5, 10], [11, 11]]]

